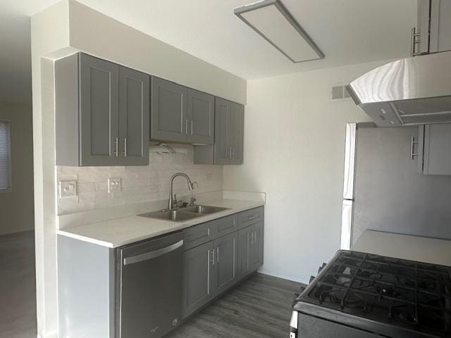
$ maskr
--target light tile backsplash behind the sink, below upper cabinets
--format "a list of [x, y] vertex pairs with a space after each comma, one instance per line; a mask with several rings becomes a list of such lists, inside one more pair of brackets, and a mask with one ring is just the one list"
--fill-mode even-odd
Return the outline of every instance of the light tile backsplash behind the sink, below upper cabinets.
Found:
[[[189, 199], [191, 193], [222, 190], [222, 165], [194, 165], [192, 146], [178, 146], [176, 149], [177, 154], [161, 155], [149, 151], [149, 165], [145, 166], [56, 166], [58, 181], [76, 181], [78, 190], [77, 196], [58, 196], [58, 215], [168, 199], [169, 180], [178, 172], [187, 174], [198, 184], [189, 192], [186, 180], [175, 178], [173, 190], [178, 196]], [[121, 191], [109, 193], [109, 178], [121, 179]]]

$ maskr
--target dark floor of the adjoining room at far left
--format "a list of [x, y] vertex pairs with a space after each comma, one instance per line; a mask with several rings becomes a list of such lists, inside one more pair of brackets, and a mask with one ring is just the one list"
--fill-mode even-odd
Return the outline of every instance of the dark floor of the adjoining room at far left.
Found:
[[0, 337], [35, 338], [35, 233], [0, 236]]

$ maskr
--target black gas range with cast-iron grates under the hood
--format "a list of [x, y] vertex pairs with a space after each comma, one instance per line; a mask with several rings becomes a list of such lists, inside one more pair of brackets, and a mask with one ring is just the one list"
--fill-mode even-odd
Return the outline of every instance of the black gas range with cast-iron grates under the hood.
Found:
[[451, 267], [338, 251], [293, 302], [293, 338], [451, 338]]

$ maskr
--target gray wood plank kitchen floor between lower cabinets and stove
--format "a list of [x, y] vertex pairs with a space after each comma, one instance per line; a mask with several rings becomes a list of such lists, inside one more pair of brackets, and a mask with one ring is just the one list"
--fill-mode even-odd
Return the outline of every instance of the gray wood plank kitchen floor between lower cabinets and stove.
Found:
[[288, 337], [291, 303], [301, 284], [257, 274], [165, 338]]

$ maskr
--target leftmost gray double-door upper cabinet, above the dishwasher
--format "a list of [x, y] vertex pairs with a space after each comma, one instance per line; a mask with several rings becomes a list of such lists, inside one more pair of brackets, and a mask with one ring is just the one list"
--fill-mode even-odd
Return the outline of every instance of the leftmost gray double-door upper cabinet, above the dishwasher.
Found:
[[55, 62], [56, 165], [147, 165], [149, 75], [87, 54]]

